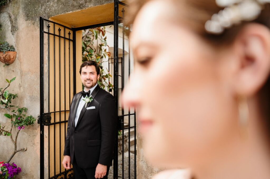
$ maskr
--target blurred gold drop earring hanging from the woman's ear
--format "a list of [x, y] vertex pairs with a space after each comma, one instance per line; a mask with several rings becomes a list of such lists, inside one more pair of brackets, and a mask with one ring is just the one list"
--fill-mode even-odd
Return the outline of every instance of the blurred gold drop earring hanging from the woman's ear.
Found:
[[238, 98], [238, 113], [239, 113], [239, 125], [242, 129], [246, 130], [249, 121], [249, 109], [246, 97]]

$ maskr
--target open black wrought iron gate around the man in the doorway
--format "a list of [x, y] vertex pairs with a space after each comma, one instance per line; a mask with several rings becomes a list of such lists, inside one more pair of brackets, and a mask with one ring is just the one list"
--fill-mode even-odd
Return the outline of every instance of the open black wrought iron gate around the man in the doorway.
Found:
[[[136, 113], [135, 109], [127, 109], [119, 103], [131, 67], [129, 45], [128, 55], [125, 51], [125, 31], [130, 30], [123, 21], [127, 7], [114, 0], [113, 22], [79, 28], [69, 28], [40, 17], [40, 178], [74, 178], [72, 169], [62, 167], [62, 159], [69, 106], [76, 94], [76, 31], [106, 25], [114, 25], [114, 55], [109, 63], [113, 64], [110, 67], [112, 94], [119, 109], [118, 131], [121, 134], [119, 138], [116, 134], [110, 170], [113, 170], [114, 179], [136, 178]], [[119, 9], [122, 17], [119, 17]], [[119, 26], [123, 28], [122, 53], [118, 50]], [[81, 48], [81, 44], [77, 46]]]

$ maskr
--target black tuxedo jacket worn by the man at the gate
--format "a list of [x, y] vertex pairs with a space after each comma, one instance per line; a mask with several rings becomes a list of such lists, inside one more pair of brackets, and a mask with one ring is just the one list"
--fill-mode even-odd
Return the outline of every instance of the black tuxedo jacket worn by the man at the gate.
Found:
[[96, 167], [98, 163], [110, 166], [117, 136], [118, 114], [113, 95], [98, 85], [91, 95], [94, 100], [86, 108], [95, 109], [86, 109], [84, 105], [76, 127], [74, 121], [82, 94], [73, 97], [66, 132], [64, 155], [70, 156], [71, 163], [75, 155], [81, 168]]

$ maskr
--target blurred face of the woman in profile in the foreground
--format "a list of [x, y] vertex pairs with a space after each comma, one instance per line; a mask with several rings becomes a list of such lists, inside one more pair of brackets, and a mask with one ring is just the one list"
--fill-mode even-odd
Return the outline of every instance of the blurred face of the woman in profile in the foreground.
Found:
[[166, 2], [148, 2], [135, 19], [136, 69], [123, 100], [137, 108], [146, 157], [160, 166], [189, 167], [226, 150], [237, 130], [237, 108], [225, 52], [173, 22], [173, 5]]

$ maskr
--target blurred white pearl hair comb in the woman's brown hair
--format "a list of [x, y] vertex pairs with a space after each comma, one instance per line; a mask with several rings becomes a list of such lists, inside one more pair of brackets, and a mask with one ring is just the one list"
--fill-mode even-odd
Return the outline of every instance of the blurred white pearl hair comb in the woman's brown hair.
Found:
[[270, 0], [216, 0], [223, 10], [212, 15], [211, 20], [205, 23], [205, 30], [212, 34], [221, 34], [224, 29], [241, 21], [251, 21], [260, 15], [264, 4]]

